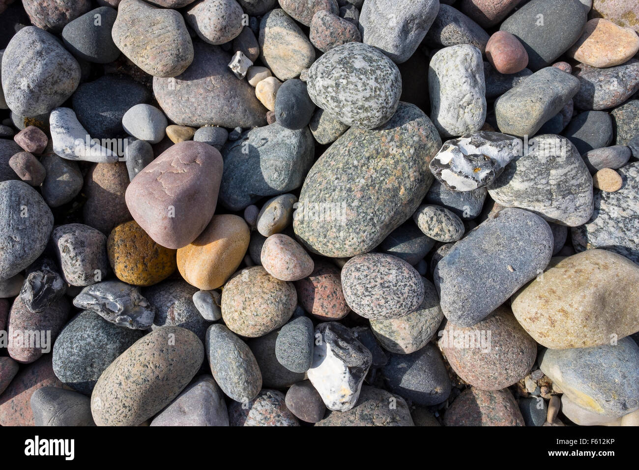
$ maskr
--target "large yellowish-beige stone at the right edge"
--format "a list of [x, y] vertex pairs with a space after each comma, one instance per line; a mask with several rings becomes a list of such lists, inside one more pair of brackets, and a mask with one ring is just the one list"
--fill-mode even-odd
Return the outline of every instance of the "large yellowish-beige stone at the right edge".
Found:
[[550, 349], [610, 344], [639, 331], [639, 266], [612, 251], [590, 249], [552, 258], [512, 297], [512, 312]]

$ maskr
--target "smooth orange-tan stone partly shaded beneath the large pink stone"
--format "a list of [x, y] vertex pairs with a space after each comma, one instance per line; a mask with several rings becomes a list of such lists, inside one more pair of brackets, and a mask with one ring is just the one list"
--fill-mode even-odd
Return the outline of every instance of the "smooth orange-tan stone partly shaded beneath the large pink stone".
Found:
[[178, 249], [178, 270], [190, 285], [217, 289], [238, 269], [249, 241], [249, 226], [242, 217], [213, 215], [194, 242]]

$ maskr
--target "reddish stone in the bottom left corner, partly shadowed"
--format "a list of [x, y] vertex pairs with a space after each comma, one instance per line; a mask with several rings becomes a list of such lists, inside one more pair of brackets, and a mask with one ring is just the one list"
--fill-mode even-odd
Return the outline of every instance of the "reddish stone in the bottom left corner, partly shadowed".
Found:
[[47, 354], [20, 370], [0, 395], [0, 426], [35, 426], [31, 395], [43, 387], [62, 388], [53, 373], [51, 357]]

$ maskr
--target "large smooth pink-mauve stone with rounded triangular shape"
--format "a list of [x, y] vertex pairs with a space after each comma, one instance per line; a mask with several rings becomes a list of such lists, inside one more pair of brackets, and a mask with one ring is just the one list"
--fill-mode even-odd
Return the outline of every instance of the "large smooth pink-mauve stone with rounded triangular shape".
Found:
[[217, 205], [222, 156], [202, 142], [173, 145], [135, 176], [125, 200], [156, 243], [187, 246], [206, 228]]

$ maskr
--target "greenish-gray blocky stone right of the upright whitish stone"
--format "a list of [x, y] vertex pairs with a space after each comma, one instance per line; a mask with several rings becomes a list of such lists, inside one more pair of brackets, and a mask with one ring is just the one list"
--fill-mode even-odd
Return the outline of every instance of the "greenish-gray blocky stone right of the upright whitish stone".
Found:
[[534, 136], [579, 90], [579, 81], [557, 67], [530, 75], [495, 101], [499, 130], [513, 136]]

